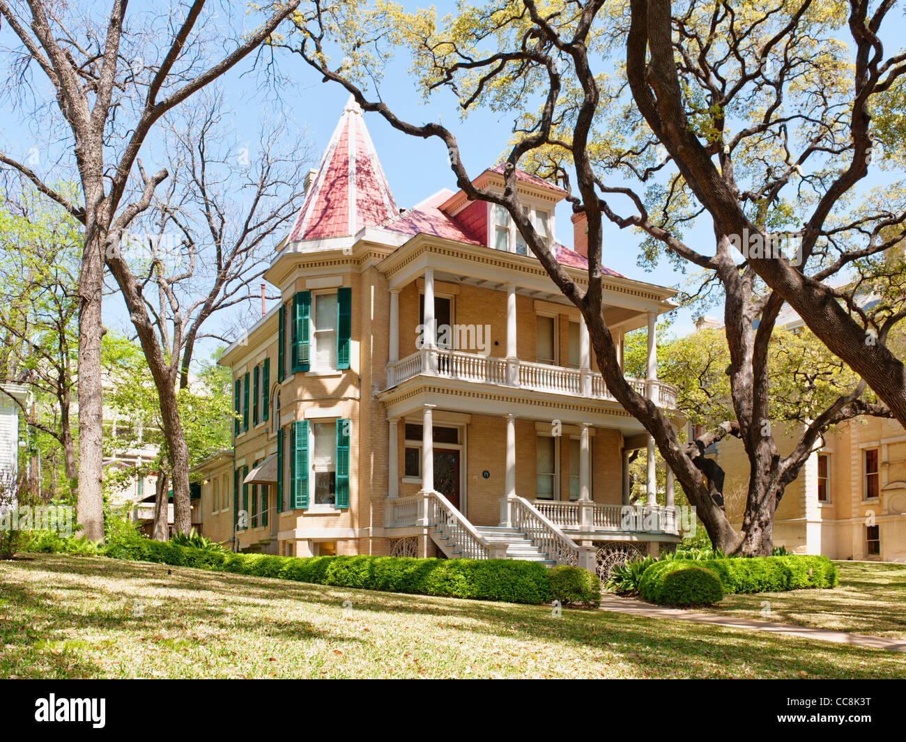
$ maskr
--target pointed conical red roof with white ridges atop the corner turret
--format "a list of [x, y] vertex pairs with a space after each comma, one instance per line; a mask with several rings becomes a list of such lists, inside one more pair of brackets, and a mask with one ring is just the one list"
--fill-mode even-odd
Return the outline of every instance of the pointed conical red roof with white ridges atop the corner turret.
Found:
[[289, 241], [354, 235], [397, 214], [361, 108], [351, 97], [295, 217]]

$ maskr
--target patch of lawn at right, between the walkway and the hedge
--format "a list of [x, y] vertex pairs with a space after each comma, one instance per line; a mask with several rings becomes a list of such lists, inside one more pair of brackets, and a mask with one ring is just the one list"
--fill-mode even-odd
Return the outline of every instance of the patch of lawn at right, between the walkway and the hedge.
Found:
[[[840, 584], [834, 590], [727, 595], [704, 609], [737, 618], [795, 623], [906, 639], [906, 564], [835, 562]], [[764, 605], [764, 602], [769, 605]], [[770, 612], [765, 612], [769, 608]]]

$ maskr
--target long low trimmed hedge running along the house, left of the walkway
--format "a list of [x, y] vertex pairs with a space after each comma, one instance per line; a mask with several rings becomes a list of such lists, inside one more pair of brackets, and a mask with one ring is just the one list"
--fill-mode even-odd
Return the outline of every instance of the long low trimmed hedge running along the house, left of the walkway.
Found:
[[522, 603], [553, 600], [550, 576], [544, 564], [510, 559], [222, 554], [150, 539], [115, 544], [107, 555], [140, 562], [389, 593]]

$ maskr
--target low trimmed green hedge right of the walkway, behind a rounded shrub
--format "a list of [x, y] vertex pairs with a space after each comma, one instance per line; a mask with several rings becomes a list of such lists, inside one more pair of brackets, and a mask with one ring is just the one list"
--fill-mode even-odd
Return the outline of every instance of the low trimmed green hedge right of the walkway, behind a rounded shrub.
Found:
[[[779, 593], [786, 590], [830, 588], [836, 587], [839, 581], [836, 565], [826, 556], [756, 556], [701, 561], [671, 559], [651, 564], [641, 575], [639, 581], [641, 597], [651, 602], [667, 603], [665, 581], [669, 575], [692, 567], [704, 568], [717, 575], [725, 594]], [[681, 579], [670, 578], [670, 581], [681, 582]], [[670, 595], [672, 599], [676, 597], [676, 594]]]

